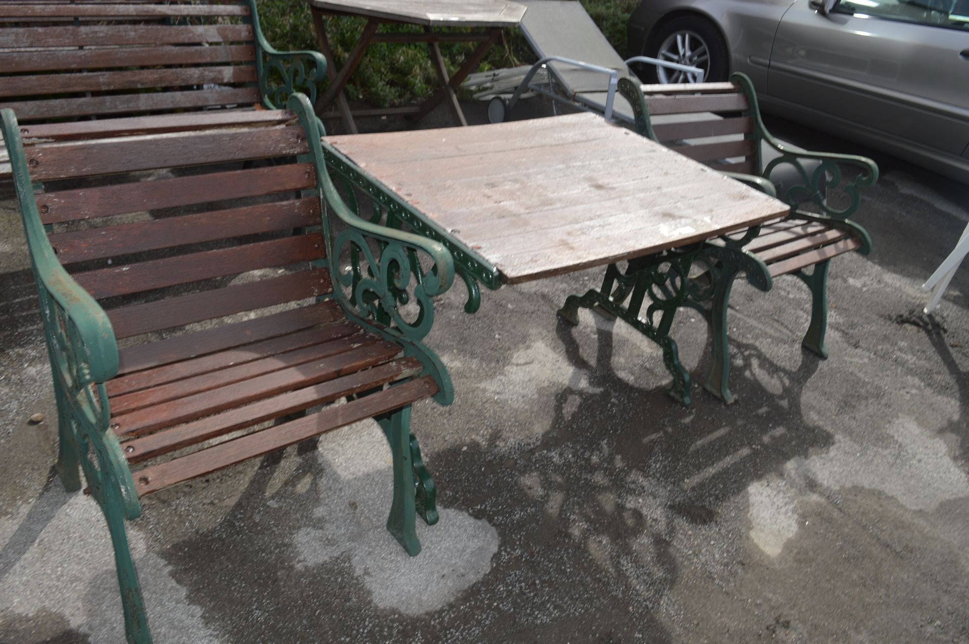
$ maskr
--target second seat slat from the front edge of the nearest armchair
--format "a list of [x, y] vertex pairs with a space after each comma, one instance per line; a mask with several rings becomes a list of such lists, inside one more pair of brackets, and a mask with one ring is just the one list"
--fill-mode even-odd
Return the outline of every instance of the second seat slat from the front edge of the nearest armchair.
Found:
[[307, 386], [245, 407], [237, 407], [222, 414], [207, 416], [172, 429], [127, 441], [124, 444], [124, 453], [129, 462], [141, 462], [266, 420], [331, 403], [374, 386], [413, 378], [421, 371], [422, 365], [417, 358], [399, 358], [327, 383]]

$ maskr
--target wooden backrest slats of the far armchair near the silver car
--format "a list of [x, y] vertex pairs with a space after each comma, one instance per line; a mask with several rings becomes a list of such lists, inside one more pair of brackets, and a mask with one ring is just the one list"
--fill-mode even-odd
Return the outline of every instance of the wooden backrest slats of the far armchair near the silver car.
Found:
[[[719, 170], [758, 173], [754, 139], [737, 137], [754, 132], [754, 119], [744, 113], [750, 103], [739, 87], [709, 82], [641, 85], [641, 91], [656, 140]], [[666, 122], [671, 115], [682, 118]]]

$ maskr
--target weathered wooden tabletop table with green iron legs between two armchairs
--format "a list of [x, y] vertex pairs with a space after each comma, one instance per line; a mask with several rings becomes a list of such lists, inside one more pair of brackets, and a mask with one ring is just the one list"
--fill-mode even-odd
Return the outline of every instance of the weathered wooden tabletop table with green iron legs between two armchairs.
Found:
[[590, 113], [323, 142], [328, 167], [360, 202], [451, 250], [468, 313], [480, 306], [479, 283], [497, 289], [608, 265], [603, 286], [570, 296], [559, 315], [578, 323], [578, 307], [588, 307], [630, 323], [663, 349], [670, 393], [686, 405], [691, 378], [670, 337], [673, 316], [689, 306], [717, 323], [718, 258], [740, 262], [752, 284], [769, 289], [741, 246], [790, 212]]

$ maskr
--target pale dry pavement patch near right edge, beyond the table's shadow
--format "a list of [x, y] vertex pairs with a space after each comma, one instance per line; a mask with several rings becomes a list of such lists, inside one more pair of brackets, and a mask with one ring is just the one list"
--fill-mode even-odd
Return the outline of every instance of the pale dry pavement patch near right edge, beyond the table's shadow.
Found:
[[953, 461], [945, 440], [912, 418], [886, 427], [885, 445], [863, 445], [839, 437], [825, 453], [785, 465], [783, 480], [757, 480], [747, 488], [750, 537], [777, 557], [797, 534], [796, 502], [810, 496], [808, 481], [832, 490], [860, 487], [882, 492], [912, 510], [932, 511], [969, 497], [969, 475]]

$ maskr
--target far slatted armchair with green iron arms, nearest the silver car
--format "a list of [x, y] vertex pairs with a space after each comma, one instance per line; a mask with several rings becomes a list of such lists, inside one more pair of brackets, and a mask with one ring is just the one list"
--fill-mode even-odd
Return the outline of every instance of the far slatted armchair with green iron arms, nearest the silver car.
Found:
[[[878, 179], [875, 163], [860, 156], [809, 152], [773, 138], [761, 120], [753, 84], [743, 74], [733, 75], [730, 82], [678, 85], [640, 85], [622, 78], [618, 89], [633, 106], [642, 136], [792, 206], [791, 215], [782, 220], [706, 244], [702, 260], [708, 270], [702, 280], [708, 288], [686, 302], [711, 326], [713, 359], [706, 388], [728, 403], [734, 401], [728, 385], [727, 304], [740, 272], [762, 291], [781, 275], [800, 278], [812, 293], [811, 322], [801, 344], [827, 357], [828, 262], [851, 251], [866, 255], [871, 250], [867, 232], [848, 218], [860, 206], [860, 190]], [[857, 174], [845, 173], [845, 166]]]

